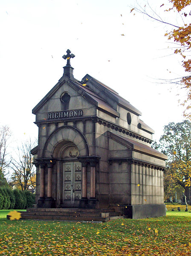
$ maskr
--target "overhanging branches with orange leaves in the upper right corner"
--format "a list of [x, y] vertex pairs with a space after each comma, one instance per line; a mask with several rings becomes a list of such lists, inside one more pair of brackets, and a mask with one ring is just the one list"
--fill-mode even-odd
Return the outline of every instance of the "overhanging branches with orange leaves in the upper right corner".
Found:
[[[169, 6], [170, 4], [170, 6]], [[180, 88], [183, 88], [186, 91], [186, 99], [182, 102], [182, 105], [185, 106], [184, 115], [188, 118], [191, 118], [190, 108], [191, 108], [191, 0], [168, 0], [168, 3], [164, 4], [161, 0], [159, 8], [165, 12], [165, 17], [170, 17], [168, 13], [175, 13], [180, 17], [179, 24], [174, 23], [177, 21], [177, 18], [174, 21], [166, 21], [162, 19], [157, 12], [155, 12], [150, 4], [147, 2], [145, 6], [133, 7], [131, 12], [139, 12], [143, 15], [146, 15], [152, 20], [157, 22], [164, 23], [168, 26], [168, 31], [164, 35], [174, 42], [174, 54], [179, 54], [182, 57], [182, 67], [184, 68], [185, 75], [182, 77], [174, 78], [172, 80], [166, 80], [172, 84], [180, 85]]]

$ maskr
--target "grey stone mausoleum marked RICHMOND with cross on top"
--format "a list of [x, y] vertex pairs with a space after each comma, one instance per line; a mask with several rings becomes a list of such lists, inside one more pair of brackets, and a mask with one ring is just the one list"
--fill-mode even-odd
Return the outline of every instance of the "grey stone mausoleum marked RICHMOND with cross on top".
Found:
[[39, 129], [38, 146], [32, 150], [36, 211], [165, 215], [167, 157], [150, 147], [154, 131], [115, 90], [88, 74], [75, 79], [73, 57], [67, 50], [63, 76], [32, 110]]

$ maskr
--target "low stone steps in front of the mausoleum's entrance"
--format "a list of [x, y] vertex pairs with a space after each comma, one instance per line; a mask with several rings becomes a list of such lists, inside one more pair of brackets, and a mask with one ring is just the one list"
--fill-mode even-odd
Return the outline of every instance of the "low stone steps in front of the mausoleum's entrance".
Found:
[[114, 209], [76, 209], [76, 208], [27, 208], [20, 212], [21, 219], [57, 220], [57, 221], [100, 221], [127, 218]]

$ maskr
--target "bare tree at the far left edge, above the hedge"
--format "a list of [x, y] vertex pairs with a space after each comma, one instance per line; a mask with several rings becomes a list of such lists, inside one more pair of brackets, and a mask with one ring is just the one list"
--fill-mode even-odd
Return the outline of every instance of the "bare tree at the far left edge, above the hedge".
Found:
[[7, 125], [0, 126], [0, 185], [7, 185], [5, 172], [10, 165], [8, 143], [11, 136], [11, 132]]

